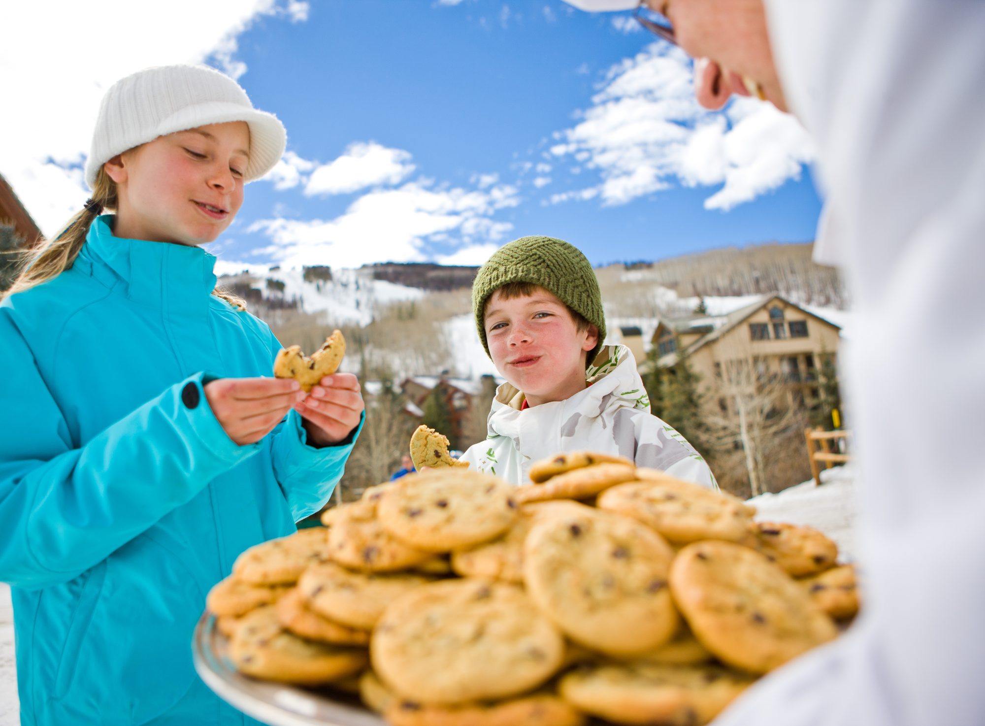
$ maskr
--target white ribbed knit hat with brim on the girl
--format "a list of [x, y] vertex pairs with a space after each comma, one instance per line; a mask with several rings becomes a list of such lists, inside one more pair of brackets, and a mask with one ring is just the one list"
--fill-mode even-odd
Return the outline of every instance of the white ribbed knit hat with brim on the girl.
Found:
[[249, 163], [243, 179], [260, 178], [281, 159], [288, 142], [277, 116], [255, 109], [239, 84], [208, 66], [137, 71], [114, 83], [102, 97], [86, 183], [93, 188], [99, 168], [117, 154], [175, 131], [228, 121], [249, 124]]

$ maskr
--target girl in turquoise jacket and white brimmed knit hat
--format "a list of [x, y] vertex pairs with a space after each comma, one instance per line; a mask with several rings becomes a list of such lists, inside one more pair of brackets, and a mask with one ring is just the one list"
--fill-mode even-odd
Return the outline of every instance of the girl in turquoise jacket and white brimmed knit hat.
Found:
[[199, 246], [284, 145], [217, 71], [123, 79], [93, 199], [0, 304], [0, 580], [24, 726], [253, 723], [196, 677], [192, 630], [237, 555], [328, 499], [363, 411], [350, 374], [306, 398], [260, 377], [281, 345], [214, 289]]

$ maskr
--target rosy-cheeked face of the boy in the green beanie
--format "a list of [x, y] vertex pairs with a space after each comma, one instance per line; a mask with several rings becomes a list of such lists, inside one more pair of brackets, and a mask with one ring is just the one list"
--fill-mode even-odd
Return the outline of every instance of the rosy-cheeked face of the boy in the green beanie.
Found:
[[585, 387], [585, 355], [594, 328], [579, 331], [570, 311], [546, 290], [486, 304], [486, 339], [496, 370], [526, 394], [530, 405], [560, 401]]

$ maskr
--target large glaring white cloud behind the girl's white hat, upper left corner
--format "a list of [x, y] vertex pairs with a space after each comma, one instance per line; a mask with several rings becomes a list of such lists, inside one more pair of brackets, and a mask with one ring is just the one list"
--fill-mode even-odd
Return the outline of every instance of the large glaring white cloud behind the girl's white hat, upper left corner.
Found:
[[[78, 2], [5, 3], [4, 97], [26, 101], [17, 112], [4, 114], [8, 143], [0, 144], [0, 172], [41, 231], [57, 231], [86, 199], [81, 165], [99, 100], [112, 83], [147, 66], [205, 60], [241, 76], [246, 67], [234, 58], [236, 37], [261, 16], [301, 20], [299, 8], [291, 10], [300, 4], [172, 0], [163, 12], [156, 4], [105, 0], [94, 12], [92, 5]], [[134, 30], [147, 28], [154, 32]], [[47, 51], [38, 50], [32, 29], [43, 29]], [[84, 52], [73, 50], [80, 48], [79, 38], [88, 38]]]

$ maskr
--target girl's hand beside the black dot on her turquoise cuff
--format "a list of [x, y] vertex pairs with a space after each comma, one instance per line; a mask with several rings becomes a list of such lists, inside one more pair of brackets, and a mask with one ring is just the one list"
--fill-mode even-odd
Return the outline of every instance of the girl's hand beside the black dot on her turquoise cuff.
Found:
[[256, 443], [304, 399], [288, 378], [220, 378], [205, 384], [205, 397], [226, 434], [238, 445]]

